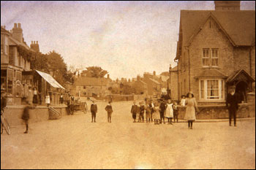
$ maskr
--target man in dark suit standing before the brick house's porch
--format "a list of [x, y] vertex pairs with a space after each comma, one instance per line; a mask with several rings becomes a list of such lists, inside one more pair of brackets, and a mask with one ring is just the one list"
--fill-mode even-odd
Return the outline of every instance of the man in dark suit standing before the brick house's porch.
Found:
[[230, 118], [230, 126], [232, 122], [232, 117], [234, 119], [234, 126], [236, 126], [236, 112], [238, 109], [238, 96], [236, 95], [235, 87], [231, 87], [229, 93], [227, 94], [226, 106]]

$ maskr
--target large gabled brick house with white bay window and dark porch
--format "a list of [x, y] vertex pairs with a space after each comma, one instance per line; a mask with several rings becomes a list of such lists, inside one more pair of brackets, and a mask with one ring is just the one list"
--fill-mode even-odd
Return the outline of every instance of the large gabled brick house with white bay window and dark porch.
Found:
[[240, 1], [181, 10], [175, 61], [179, 98], [192, 91], [199, 104], [221, 104], [236, 85], [246, 102], [255, 87], [255, 11], [240, 10]]

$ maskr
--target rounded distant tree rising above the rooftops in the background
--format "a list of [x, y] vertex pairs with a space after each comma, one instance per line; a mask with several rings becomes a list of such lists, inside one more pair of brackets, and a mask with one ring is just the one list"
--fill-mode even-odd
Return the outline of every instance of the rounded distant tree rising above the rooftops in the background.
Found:
[[108, 74], [108, 71], [103, 70], [99, 66], [89, 66], [86, 67], [86, 70], [81, 72], [82, 77], [95, 77], [95, 78], [103, 78]]

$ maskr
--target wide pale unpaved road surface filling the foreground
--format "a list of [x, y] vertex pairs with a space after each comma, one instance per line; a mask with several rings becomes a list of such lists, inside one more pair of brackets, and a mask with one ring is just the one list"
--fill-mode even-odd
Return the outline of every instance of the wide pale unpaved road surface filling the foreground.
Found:
[[[108, 123], [76, 112], [1, 135], [1, 169], [255, 169], [255, 118], [154, 125], [132, 123], [131, 104], [113, 103]], [[246, 121], [244, 121], [246, 120]], [[212, 120], [211, 120], [212, 121]]]

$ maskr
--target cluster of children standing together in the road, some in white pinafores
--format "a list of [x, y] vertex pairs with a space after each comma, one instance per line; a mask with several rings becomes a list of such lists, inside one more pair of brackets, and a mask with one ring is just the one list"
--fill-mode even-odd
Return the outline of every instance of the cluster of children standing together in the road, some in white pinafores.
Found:
[[146, 113], [146, 123], [154, 121], [155, 125], [160, 123], [165, 124], [165, 118], [167, 118], [167, 124], [172, 125], [172, 120], [178, 123], [178, 104], [176, 101], [146, 101], [144, 105], [143, 102], [139, 103], [139, 106], [134, 101], [131, 109], [133, 122], [136, 123], [136, 118], [138, 117], [138, 122], [144, 122], [144, 115]]

